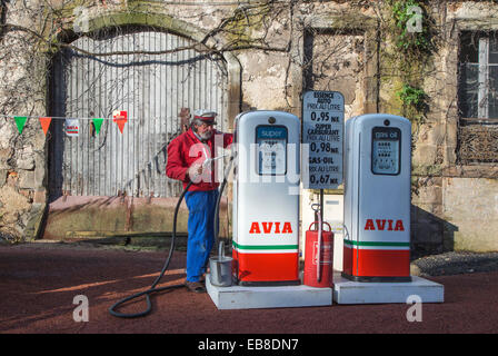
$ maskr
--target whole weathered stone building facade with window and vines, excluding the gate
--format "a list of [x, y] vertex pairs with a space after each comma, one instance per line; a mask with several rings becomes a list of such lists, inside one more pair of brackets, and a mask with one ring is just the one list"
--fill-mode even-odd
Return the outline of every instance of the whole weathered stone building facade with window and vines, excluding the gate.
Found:
[[[498, 249], [495, 1], [28, 0], [2, 2], [1, 21], [4, 238], [40, 237], [50, 216], [50, 157], [61, 148], [31, 118], [56, 116], [57, 53], [96, 57], [78, 39], [147, 30], [186, 38], [190, 50], [222, 59], [228, 128], [245, 110], [300, 116], [301, 95], [311, 89], [342, 92], [346, 119], [408, 117], [412, 249]], [[30, 117], [22, 134], [13, 116]]]

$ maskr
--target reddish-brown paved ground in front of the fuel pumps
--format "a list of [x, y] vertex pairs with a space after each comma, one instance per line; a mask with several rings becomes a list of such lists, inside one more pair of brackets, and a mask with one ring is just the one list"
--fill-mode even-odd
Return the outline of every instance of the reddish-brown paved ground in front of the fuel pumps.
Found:
[[[437, 276], [444, 304], [422, 306], [422, 322], [408, 322], [409, 305], [218, 310], [206, 294], [178, 288], [152, 297], [143, 318], [121, 319], [108, 308], [147, 289], [166, 253], [86, 248], [59, 244], [0, 246], [0, 333], [329, 334], [497, 333], [498, 273]], [[185, 254], [176, 253], [159, 286], [181, 284]], [[89, 300], [89, 322], [76, 323], [73, 298]], [[145, 303], [123, 309], [139, 312]], [[80, 314], [81, 315], [81, 314]]]

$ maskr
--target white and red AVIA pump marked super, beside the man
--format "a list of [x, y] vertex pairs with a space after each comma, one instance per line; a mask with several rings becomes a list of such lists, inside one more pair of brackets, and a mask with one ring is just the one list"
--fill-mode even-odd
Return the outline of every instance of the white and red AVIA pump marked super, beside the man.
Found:
[[299, 285], [300, 121], [281, 111], [249, 111], [235, 127], [238, 285]]

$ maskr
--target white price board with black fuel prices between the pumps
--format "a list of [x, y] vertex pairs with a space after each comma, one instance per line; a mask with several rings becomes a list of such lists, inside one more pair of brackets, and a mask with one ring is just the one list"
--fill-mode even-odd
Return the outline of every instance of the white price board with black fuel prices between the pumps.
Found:
[[[338, 91], [307, 91], [302, 97], [305, 189], [337, 189], [342, 184], [345, 98]], [[306, 150], [303, 150], [306, 152]]]

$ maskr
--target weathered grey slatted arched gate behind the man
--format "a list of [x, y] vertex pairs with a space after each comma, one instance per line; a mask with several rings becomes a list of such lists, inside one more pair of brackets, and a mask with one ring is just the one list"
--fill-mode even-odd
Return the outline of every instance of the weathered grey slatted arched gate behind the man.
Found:
[[[166, 147], [180, 132], [178, 113], [206, 108], [228, 127], [225, 61], [167, 32], [100, 32], [71, 43], [53, 61], [51, 115], [79, 118], [79, 136], [51, 126], [50, 200], [60, 196], [173, 197], [181, 186], [165, 175]], [[126, 110], [122, 134], [112, 121]], [[92, 118], [104, 118], [97, 135]]]

